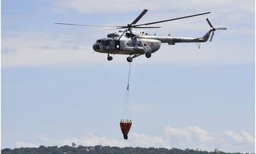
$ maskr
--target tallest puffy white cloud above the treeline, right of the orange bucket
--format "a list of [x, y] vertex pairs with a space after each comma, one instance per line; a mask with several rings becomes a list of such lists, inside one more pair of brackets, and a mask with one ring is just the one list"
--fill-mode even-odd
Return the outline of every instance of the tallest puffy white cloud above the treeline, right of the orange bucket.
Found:
[[170, 144], [178, 148], [220, 149], [224, 152], [254, 152], [255, 138], [246, 131], [209, 134], [198, 126], [184, 128], [165, 127]]

